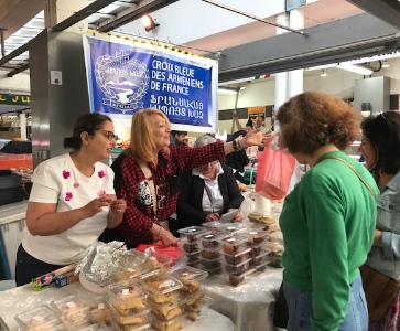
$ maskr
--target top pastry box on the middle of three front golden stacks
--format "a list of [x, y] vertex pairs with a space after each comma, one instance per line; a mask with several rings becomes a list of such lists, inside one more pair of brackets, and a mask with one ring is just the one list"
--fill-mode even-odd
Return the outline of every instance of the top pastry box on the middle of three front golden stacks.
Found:
[[182, 288], [181, 281], [160, 270], [141, 276], [139, 284], [158, 303], [173, 301], [179, 297], [176, 290]]

